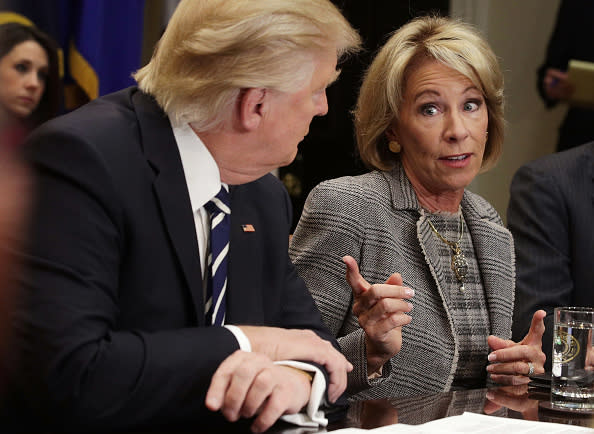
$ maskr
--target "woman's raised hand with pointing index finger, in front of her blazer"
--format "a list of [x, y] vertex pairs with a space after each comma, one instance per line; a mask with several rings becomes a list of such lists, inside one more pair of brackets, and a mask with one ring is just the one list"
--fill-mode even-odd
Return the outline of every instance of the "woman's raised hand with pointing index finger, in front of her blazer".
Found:
[[370, 285], [359, 273], [357, 261], [351, 256], [342, 258], [347, 266], [346, 279], [353, 289], [353, 313], [365, 330], [367, 369], [377, 371], [402, 348], [402, 326], [410, 323], [405, 312], [412, 304], [405, 299], [414, 291], [402, 286], [402, 276], [392, 274], [386, 283]]

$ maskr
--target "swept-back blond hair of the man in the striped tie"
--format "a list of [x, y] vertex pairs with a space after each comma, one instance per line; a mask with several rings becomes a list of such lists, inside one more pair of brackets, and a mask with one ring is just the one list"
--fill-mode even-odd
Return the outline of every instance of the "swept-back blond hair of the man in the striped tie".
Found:
[[313, 54], [359, 46], [328, 0], [182, 0], [134, 78], [175, 122], [205, 130], [225, 120], [242, 88], [297, 90]]

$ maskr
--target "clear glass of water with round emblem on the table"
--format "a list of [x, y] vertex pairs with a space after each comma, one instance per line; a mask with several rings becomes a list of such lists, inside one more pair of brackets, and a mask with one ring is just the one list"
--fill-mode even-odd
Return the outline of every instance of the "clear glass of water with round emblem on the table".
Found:
[[594, 409], [594, 309], [555, 308], [551, 405]]

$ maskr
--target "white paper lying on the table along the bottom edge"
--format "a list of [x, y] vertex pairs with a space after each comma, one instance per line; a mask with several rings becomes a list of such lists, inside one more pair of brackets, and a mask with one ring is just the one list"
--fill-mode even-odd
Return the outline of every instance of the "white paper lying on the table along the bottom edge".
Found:
[[538, 422], [522, 419], [508, 419], [498, 416], [465, 412], [459, 416], [450, 416], [433, 420], [422, 425], [406, 425], [398, 423], [387, 425], [372, 430], [346, 428], [332, 431], [333, 434], [351, 433], [412, 433], [412, 434], [433, 434], [433, 433], [514, 433], [514, 434], [564, 434], [564, 433], [592, 433], [592, 428], [565, 425], [551, 422]]

